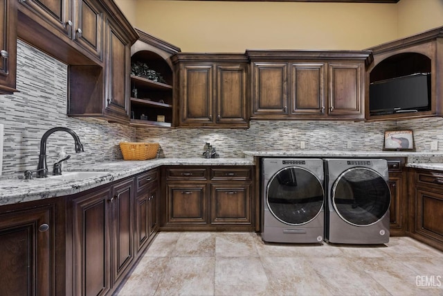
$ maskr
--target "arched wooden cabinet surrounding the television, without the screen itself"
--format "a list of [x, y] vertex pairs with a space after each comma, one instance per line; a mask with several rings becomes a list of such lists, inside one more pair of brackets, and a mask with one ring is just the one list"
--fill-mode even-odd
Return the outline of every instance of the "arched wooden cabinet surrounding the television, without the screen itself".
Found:
[[[428, 108], [418, 112], [371, 112], [370, 88], [366, 89], [365, 118], [368, 121], [402, 120], [443, 116], [443, 27], [370, 48], [374, 62], [368, 67], [366, 84], [431, 73], [431, 97]], [[373, 96], [372, 96], [372, 99]], [[401, 107], [401, 106], [399, 106]], [[418, 107], [418, 106], [417, 106]]]

